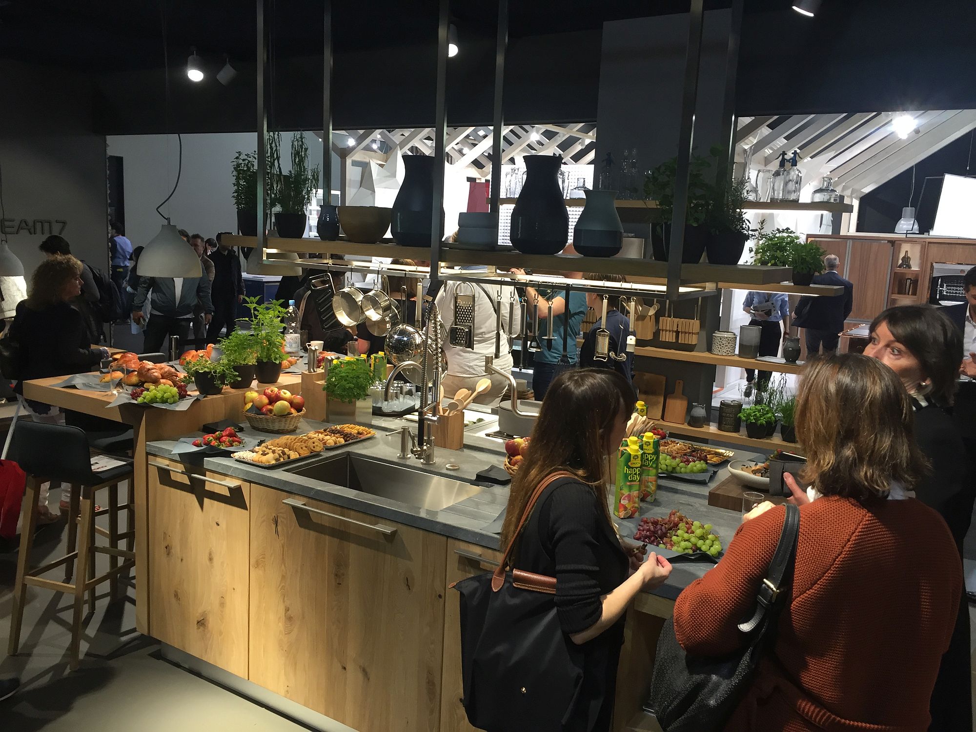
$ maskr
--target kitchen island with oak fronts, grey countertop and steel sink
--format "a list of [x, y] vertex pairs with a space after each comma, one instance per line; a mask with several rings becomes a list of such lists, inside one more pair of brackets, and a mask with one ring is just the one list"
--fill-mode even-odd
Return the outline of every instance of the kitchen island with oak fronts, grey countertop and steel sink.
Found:
[[[313, 728], [469, 730], [449, 586], [499, 559], [508, 486], [471, 481], [501, 465], [502, 443], [471, 435], [427, 467], [399, 460], [399, 435], [386, 431], [396, 423], [380, 422], [373, 438], [278, 469], [148, 443], [150, 634], [172, 660]], [[707, 494], [662, 479], [641, 514], [676, 508], [727, 543], [739, 513], [708, 506]], [[620, 521], [621, 533], [636, 521]], [[710, 566], [676, 564], [630, 608], [615, 730], [641, 728], [662, 624]]]

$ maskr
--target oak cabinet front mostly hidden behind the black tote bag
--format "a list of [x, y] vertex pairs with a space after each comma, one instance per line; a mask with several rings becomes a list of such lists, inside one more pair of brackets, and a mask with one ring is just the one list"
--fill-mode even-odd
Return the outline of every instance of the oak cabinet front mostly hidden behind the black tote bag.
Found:
[[474, 544], [447, 541], [447, 604], [444, 607], [444, 673], [440, 694], [441, 732], [476, 732], [468, 724], [464, 707], [464, 684], [461, 678], [461, 606], [452, 582], [491, 572], [502, 558], [501, 551]]

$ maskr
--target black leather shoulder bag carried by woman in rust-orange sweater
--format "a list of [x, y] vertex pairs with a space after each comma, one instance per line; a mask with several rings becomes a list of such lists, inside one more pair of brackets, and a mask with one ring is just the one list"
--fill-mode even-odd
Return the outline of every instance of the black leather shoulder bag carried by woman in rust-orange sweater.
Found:
[[[722, 658], [696, 658], [685, 653], [669, 619], [658, 638], [651, 694], [644, 706], [665, 732], [714, 732], [725, 725], [752, 685], [762, 654], [776, 634], [784, 590], [793, 582], [799, 508], [787, 505], [783, 533], [766, 578], [759, 586], [752, 618], [739, 624], [749, 644]], [[783, 596], [781, 596], [783, 595]]]

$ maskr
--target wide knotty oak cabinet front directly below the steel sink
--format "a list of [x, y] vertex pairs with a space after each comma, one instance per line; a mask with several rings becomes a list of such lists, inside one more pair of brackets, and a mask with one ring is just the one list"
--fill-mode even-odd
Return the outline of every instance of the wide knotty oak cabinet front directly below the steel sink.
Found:
[[252, 487], [251, 681], [359, 732], [436, 731], [447, 539]]

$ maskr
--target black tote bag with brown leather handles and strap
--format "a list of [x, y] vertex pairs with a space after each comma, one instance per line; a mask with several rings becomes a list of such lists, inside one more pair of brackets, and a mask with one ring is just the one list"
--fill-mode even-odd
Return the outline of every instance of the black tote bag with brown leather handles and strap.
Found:
[[461, 593], [461, 672], [468, 721], [492, 732], [557, 732], [575, 706], [583, 681], [581, 653], [562, 631], [555, 578], [508, 570], [515, 539], [552, 481], [536, 488], [492, 573], [452, 587]]

